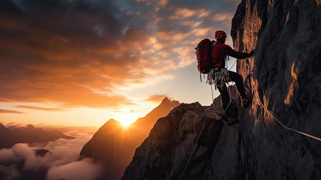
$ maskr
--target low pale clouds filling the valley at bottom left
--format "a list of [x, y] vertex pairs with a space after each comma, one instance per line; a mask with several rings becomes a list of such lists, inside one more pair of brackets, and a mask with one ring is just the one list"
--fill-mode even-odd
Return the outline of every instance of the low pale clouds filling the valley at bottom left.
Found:
[[[83, 146], [91, 139], [93, 131], [70, 131], [65, 134], [75, 138], [70, 140], [60, 138], [45, 144], [19, 143], [10, 149], [0, 149], [0, 178], [3, 180], [34, 177], [46, 180], [99, 179], [102, 174], [101, 164], [91, 158], [79, 157]], [[37, 156], [35, 149], [45, 149], [51, 153]]]

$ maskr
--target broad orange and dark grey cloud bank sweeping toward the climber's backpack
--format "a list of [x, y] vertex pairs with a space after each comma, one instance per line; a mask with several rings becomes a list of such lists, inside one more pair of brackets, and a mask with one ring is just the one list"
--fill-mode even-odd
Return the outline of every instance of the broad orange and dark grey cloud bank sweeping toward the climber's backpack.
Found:
[[5, 1], [0, 9], [10, 11], [0, 16], [0, 103], [57, 105], [24, 106], [47, 111], [129, 105], [122, 90], [175, 78], [170, 70], [194, 63], [197, 37], [214, 34], [213, 21], [228, 22], [231, 15], [171, 1], [126, 5]]

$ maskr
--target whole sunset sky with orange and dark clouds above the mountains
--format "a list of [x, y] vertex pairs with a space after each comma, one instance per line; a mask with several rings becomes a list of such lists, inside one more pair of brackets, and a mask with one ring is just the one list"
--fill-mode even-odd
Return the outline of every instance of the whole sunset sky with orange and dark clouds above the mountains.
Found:
[[233, 47], [240, 2], [0, 1], [0, 123], [130, 123], [165, 97], [209, 106], [194, 47], [216, 30]]

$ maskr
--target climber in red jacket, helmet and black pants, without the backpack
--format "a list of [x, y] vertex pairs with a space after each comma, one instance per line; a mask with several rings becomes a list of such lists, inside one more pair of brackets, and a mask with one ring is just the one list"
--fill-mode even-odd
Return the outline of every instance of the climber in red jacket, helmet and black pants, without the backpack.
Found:
[[230, 46], [225, 44], [226, 37], [227, 36], [224, 31], [215, 32], [216, 42], [212, 48], [212, 58], [213, 58], [213, 64], [214, 64], [212, 76], [213, 76], [213, 79], [216, 78], [216, 80], [214, 80], [214, 83], [221, 95], [221, 102], [224, 110], [226, 110], [225, 115], [227, 117], [228, 125], [230, 126], [235, 123], [239, 123], [238, 115], [237, 113], [236, 115], [233, 115], [235, 113], [233, 113], [233, 107], [229, 106], [230, 95], [227, 91], [226, 84], [222, 80], [219, 81], [219, 77], [217, 77], [218, 76], [217, 74], [221, 74], [221, 75], [225, 74], [227, 82], [235, 82], [237, 91], [240, 97], [242, 98], [242, 106], [244, 109], [247, 108], [249, 104], [252, 102], [252, 96], [247, 96], [244, 88], [242, 76], [236, 72], [228, 71], [225, 68], [225, 58], [226, 56], [232, 56], [238, 59], [251, 57], [254, 55], [254, 50], [252, 50], [250, 53], [235, 51]]

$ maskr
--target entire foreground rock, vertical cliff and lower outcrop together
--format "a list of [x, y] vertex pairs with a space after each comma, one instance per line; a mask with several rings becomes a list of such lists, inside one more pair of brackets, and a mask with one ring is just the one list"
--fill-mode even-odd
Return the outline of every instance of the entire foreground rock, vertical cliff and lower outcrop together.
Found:
[[234, 49], [255, 49], [237, 63], [253, 94], [245, 110], [233, 97], [240, 124], [215, 120], [219, 97], [209, 114], [180, 105], [157, 121], [123, 179], [321, 179], [321, 141], [291, 130], [321, 138], [321, 1], [243, 0], [231, 35]]

